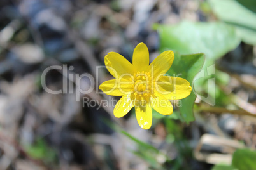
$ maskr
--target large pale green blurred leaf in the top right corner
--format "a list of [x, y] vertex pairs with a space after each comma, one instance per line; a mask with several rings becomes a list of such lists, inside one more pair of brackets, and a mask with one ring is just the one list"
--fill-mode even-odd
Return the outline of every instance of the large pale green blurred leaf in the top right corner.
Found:
[[[213, 13], [236, 28], [236, 34], [246, 43], [256, 44], [256, 13], [235, 0], [208, 0]], [[255, 4], [252, 3], [252, 5]], [[246, 3], [246, 5], [249, 5]], [[255, 8], [252, 7], [252, 8]]]

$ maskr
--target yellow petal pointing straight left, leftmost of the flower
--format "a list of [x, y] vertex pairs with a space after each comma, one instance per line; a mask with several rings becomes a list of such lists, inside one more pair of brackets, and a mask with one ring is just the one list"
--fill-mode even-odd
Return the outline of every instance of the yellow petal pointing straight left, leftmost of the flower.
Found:
[[124, 96], [125, 94], [129, 94], [131, 91], [132, 84], [129, 82], [121, 84], [117, 79], [113, 79], [103, 82], [101, 85], [99, 85], [99, 89], [101, 89], [107, 95]]

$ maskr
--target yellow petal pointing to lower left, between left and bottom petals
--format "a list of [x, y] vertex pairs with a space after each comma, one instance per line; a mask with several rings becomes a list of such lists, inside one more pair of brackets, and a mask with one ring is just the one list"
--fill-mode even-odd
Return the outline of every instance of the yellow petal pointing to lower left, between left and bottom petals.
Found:
[[114, 108], [114, 115], [115, 117], [123, 117], [126, 115], [131, 109], [134, 107], [133, 100], [131, 98], [131, 95], [125, 95], [118, 100], [117, 104]]

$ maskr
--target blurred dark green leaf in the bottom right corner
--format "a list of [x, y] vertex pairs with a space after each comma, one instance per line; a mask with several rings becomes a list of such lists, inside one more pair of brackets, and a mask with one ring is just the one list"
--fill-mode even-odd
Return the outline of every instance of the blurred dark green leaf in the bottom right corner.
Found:
[[256, 152], [248, 149], [238, 149], [233, 154], [232, 166], [239, 170], [256, 169]]

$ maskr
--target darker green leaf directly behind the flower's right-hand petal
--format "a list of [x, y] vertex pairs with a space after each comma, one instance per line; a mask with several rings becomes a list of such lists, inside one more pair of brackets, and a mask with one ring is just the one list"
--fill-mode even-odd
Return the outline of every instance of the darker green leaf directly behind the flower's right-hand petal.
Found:
[[[180, 55], [175, 53], [173, 65], [167, 74], [171, 76], [179, 76], [193, 84], [193, 79], [196, 74], [201, 70], [204, 64], [204, 54], [198, 53], [194, 55]], [[191, 94], [184, 99], [181, 99], [180, 112], [185, 122], [194, 121], [193, 107], [196, 95], [192, 91]]]

